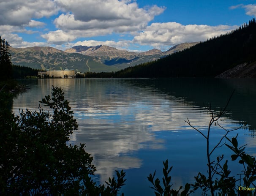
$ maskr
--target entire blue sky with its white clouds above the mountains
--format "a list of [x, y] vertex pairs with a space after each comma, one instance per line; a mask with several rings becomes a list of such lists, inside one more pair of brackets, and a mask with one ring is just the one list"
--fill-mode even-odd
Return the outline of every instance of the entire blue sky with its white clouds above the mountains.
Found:
[[14, 48], [165, 51], [248, 23], [256, 0], [0, 0], [0, 13], [0, 35]]

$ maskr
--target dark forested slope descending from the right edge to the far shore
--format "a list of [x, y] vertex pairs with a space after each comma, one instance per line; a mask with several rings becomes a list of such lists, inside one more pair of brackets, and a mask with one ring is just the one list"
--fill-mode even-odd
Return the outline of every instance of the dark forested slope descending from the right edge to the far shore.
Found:
[[256, 22], [153, 62], [85, 77], [214, 77], [242, 63], [256, 61]]

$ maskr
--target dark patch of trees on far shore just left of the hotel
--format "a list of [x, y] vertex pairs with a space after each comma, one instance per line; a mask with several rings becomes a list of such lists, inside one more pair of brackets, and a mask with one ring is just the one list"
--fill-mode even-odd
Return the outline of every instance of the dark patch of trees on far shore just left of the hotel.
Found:
[[15, 79], [23, 79], [27, 76], [37, 76], [38, 69], [33, 69], [30, 67], [23, 67], [20, 65], [12, 65], [12, 74]]

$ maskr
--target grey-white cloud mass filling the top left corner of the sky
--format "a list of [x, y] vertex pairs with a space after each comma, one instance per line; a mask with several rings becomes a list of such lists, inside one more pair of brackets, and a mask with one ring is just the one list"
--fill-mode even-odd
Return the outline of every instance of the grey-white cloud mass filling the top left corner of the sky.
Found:
[[46, 24], [32, 18], [49, 17], [57, 14], [52, 0], [8, 0], [0, 1], [0, 35], [14, 48], [47, 46], [45, 42], [24, 41], [17, 33], [38, 33], [26, 27], [44, 27]]

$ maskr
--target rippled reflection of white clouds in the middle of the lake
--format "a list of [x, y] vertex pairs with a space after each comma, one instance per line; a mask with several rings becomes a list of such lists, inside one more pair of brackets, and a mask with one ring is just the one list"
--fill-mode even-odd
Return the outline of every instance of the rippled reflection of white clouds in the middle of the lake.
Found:
[[143, 160], [134, 157], [134, 152], [166, 148], [165, 139], [156, 137], [155, 131], [179, 136], [179, 132], [191, 130], [184, 121], [187, 118], [197, 128], [207, 128], [210, 115], [192, 101], [187, 103], [184, 98], [129, 83], [108, 85], [91, 83], [90, 93], [84, 87], [71, 101], [79, 122], [71, 142], [86, 143], [87, 152], [99, 166], [96, 173], [101, 182], [112, 176], [115, 169], [141, 167]]

